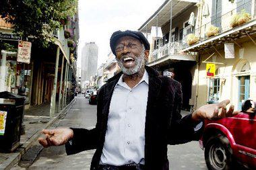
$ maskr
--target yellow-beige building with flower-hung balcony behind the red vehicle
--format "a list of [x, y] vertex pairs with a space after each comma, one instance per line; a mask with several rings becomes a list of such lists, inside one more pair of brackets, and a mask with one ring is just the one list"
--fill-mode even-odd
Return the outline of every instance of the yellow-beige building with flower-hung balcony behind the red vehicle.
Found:
[[[197, 108], [230, 99], [241, 110], [244, 100], [256, 100], [255, 0], [201, 1], [199, 11], [201, 26], [194, 32], [199, 41], [183, 48], [198, 53]], [[214, 77], [207, 76], [207, 63], [216, 65]]]

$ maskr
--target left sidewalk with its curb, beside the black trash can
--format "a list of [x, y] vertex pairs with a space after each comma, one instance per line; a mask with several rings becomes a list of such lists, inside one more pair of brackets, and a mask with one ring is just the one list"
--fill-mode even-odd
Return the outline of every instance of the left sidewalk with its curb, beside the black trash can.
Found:
[[13, 153], [0, 153], [0, 170], [10, 169], [20, 161], [20, 158], [32, 146], [32, 142], [38, 139], [43, 128], [49, 128], [58, 118], [69, 111], [75, 99], [69, 103], [54, 118], [49, 118], [50, 105], [44, 104], [26, 110], [24, 124], [26, 133], [20, 136], [20, 146]]

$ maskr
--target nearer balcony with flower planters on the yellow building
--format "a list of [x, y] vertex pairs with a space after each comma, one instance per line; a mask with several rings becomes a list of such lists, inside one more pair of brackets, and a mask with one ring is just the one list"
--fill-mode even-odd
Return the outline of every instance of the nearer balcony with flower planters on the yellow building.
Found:
[[[251, 15], [250, 21], [232, 28], [230, 24], [232, 18], [238, 13], [241, 13], [241, 11], [245, 11], [246, 13]], [[203, 26], [195, 30], [194, 34], [199, 38], [199, 42], [191, 46], [189, 46], [187, 43], [183, 44], [183, 51], [198, 52], [200, 50], [210, 48], [217, 44], [223, 44], [230, 41], [234, 42], [234, 40], [236, 40], [237, 38], [249, 36], [249, 34], [256, 32], [256, 29], [254, 28], [256, 24], [256, 19], [253, 13], [254, 11], [252, 7], [252, 1], [247, 1], [247, 3], [243, 3], [242, 5], [232, 9], [231, 11], [220, 15], [220, 17], [212, 19], [211, 22], [208, 22], [207, 24], [204, 24]], [[216, 26], [217, 28], [219, 28], [219, 32], [216, 36], [206, 36], [207, 30], [210, 28], [210, 26]], [[187, 35], [185, 35], [185, 38], [187, 38]]]

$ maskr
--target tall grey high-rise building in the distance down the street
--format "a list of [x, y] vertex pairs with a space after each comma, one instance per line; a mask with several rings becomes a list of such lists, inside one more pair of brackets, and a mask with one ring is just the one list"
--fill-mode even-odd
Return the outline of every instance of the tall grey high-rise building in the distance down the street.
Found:
[[81, 58], [81, 85], [82, 88], [86, 87], [89, 83], [90, 77], [96, 75], [98, 63], [98, 46], [95, 42], [89, 42], [82, 48]]

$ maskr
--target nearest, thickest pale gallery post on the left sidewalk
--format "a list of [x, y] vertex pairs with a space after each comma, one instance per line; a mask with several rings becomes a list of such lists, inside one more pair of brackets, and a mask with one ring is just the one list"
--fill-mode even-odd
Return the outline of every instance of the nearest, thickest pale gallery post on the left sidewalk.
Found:
[[52, 95], [51, 95], [50, 118], [53, 118], [53, 116], [55, 115], [58, 69], [59, 69], [59, 46], [57, 48], [57, 54], [56, 54], [55, 77], [54, 77], [54, 82], [53, 82], [53, 91], [52, 91]]

